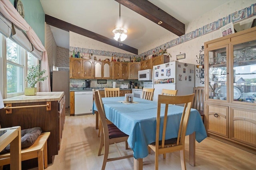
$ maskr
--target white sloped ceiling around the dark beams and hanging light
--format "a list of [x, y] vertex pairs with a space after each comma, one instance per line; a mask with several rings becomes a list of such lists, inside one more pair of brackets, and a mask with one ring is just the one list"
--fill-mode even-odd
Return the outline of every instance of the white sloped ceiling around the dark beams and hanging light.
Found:
[[[149, 0], [185, 25], [229, 0]], [[140, 49], [145, 42], [170, 33], [114, 0], [40, 0], [45, 14], [77, 25], [94, 33], [113, 38], [112, 30], [128, 29], [126, 45]], [[69, 49], [69, 33], [50, 26], [57, 46]], [[186, 28], [185, 28], [186, 29]]]

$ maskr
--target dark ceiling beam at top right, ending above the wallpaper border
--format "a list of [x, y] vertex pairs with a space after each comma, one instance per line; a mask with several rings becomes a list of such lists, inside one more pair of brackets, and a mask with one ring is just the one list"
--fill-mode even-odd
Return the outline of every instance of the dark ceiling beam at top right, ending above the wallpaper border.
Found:
[[[185, 24], [170, 16], [148, 0], [116, 0], [134, 12], [148, 18], [172, 33], [181, 36], [185, 34]], [[159, 22], [162, 22], [159, 24]]]

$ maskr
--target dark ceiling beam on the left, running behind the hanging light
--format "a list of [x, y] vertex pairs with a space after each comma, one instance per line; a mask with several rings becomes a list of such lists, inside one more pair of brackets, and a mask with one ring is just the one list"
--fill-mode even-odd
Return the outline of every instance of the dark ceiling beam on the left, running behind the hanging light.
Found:
[[119, 49], [122, 49], [122, 50], [125, 50], [125, 51], [128, 51], [130, 53], [134, 53], [134, 54], [138, 55], [138, 49], [136, 49], [134, 47], [130, 47], [129, 45], [125, 45], [124, 43], [123, 43], [122, 46], [120, 46], [118, 41], [115, 41], [115, 40], [110, 39], [108, 37], [104, 37], [100, 34], [92, 32], [92, 31], [88, 31], [87, 29], [78, 27], [78, 26], [73, 25], [71, 23], [68, 23], [66, 21], [59, 20], [58, 18], [54, 18], [52, 16], [49, 16], [49, 15], [45, 14], [45, 21], [48, 25], [52, 25], [54, 27], [57, 27], [59, 29], [63, 29], [63, 30], [68, 31], [68, 32], [72, 31], [74, 33], [84, 35], [84, 36], [89, 37], [91, 39], [100, 41], [102, 43], [106, 43], [108, 45], [112, 45], [116, 48], [119, 48]]

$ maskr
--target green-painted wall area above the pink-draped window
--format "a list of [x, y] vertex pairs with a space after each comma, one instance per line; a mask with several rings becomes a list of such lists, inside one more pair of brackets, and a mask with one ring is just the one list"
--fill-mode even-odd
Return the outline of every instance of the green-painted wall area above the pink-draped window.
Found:
[[[10, 2], [14, 6], [16, 0], [10, 0]], [[24, 19], [32, 27], [44, 45], [45, 14], [40, 0], [21, 0], [21, 2], [25, 13]]]

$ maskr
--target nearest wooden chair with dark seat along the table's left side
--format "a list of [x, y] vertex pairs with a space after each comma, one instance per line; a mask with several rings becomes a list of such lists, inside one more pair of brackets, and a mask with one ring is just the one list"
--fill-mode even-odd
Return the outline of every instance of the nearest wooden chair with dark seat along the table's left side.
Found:
[[101, 96], [98, 91], [95, 92], [95, 103], [100, 115], [100, 122], [102, 125], [102, 133], [101, 133], [101, 139], [100, 139], [100, 149], [98, 152], [98, 156], [101, 155], [102, 147], [104, 146], [104, 158], [102, 163], [102, 170], [105, 169], [106, 163], [113, 160], [120, 160], [125, 158], [131, 158], [133, 157], [133, 154], [115, 157], [115, 158], [108, 158], [108, 152], [109, 152], [109, 145], [120, 143], [120, 142], [127, 142], [128, 135], [120, 131], [118, 127], [116, 127], [113, 123], [108, 124], [106, 121], [106, 116], [104, 112], [104, 107], [102, 107], [102, 101]]

